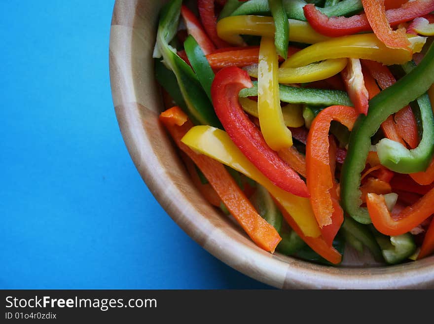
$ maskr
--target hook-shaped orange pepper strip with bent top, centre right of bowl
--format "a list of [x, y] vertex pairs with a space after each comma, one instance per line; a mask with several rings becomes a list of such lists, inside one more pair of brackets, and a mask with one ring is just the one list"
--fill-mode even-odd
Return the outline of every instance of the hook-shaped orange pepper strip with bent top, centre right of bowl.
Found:
[[351, 131], [358, 115], [353, 107], [330, 106], [320, 111], [312, 121], [306, 144], [306, 180], [311, 206], [320, 228], [332, 223], [333, 213], [342, 213], [340, 208], [333, 209], [330, 195], [334, 185], [328, 157], [330, 122], [336, 120]]

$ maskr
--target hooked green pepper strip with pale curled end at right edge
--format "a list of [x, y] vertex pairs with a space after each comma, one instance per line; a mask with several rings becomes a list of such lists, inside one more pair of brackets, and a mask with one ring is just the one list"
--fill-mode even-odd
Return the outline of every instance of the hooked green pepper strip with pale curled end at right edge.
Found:
[[[406, 73], [414, 69], [413, 62], [404, 64], [402, 67]], [[380, 163], [386, 168], [398, 173], [422, 172], [428, 168], [434, 153], [434, 116], [427, 94], [417, 98], [422, 122], [422, 139], [414, 149], [407, 149], [402, 144], [382, 139], [377, 146]]]

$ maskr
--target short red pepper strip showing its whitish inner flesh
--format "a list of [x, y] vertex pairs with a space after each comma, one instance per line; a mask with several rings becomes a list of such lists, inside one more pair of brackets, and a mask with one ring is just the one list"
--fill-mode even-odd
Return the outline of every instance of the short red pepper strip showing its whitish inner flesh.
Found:
[[354, 107], [359, 113], [367, 114], [369, 93], [366, 90], [359, 59], [348, 59], [348, 64], [341, 72], [342, 79]]

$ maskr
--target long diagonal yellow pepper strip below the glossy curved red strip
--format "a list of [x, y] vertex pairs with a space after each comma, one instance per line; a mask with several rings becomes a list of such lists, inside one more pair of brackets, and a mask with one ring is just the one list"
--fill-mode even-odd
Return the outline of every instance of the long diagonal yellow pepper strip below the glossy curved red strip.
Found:
[[196, 152], [205, 154], [221, 163], [245, 174], [264, 186], [270, 194], [293, 217], [304, 235], [321, 235], [308, 198], [295, 196], [282, 190], [265, 177], [231, 141], [226, 132], [212, 126], [195, 126], [181, 139]]

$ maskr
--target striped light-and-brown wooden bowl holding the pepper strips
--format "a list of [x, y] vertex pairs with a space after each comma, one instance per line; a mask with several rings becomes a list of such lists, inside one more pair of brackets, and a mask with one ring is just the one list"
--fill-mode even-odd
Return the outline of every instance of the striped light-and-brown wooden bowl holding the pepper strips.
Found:
[[198, 244], [234, 269], [277, 288], [434, 288], [434, 256], [381, 266], [345, 253], [339, 267], [317, 265], [256, 247], [193, 186], [158, 122], [163, 108], [152, 50], [165, 1], [116, 0], [109, 65], [119, 128], [140, 175], [155, 198]]

